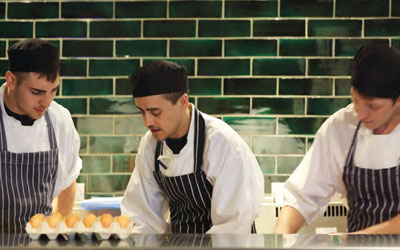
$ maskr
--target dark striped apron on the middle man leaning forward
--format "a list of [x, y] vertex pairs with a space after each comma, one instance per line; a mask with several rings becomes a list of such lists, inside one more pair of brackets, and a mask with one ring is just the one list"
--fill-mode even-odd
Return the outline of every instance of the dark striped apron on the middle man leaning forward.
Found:
[[[154, 177], [169, 199], [172, 233], [203, 234], [211, 226], [211, 197], [213, 186], [201, 169], [205, 143], [205, 122], [200, 112], [194, 112], [194, 172], [181, 176], [164, 176], [158, 160], [162, 154], [162, 142], [157, 143]], [[255, 233], [253, 223], [252, 232]]]

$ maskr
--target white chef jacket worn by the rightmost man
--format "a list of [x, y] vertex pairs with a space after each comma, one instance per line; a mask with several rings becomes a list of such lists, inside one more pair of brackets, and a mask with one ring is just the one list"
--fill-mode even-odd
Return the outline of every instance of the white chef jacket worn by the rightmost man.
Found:
[[[323, 215], [335, 192], [346, 196], [343, 170], [357, 124], [353, 104], [329, 117], [284, 185], [284, 205], [294, 207], [308, 224]], [[399, 163], [400, 126], [390, 134], [375, 135], [361, 124], [354, 165], [383, 169], [398, 166]]]

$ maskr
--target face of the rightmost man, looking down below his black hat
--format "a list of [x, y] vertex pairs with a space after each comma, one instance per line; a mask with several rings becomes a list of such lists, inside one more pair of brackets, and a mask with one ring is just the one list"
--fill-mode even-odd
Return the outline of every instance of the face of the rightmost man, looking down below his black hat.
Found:
[[372, 130], [387, 127], [399, 114], [400, 99], [366, 97], [351, 89], [351, 97], [358, 119]]

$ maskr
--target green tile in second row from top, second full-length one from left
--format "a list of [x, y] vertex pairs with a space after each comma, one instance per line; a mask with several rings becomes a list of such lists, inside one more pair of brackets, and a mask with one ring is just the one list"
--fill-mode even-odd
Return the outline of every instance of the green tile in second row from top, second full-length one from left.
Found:
[[90, 37], [139, 37], [139, 21], [90, 22]]

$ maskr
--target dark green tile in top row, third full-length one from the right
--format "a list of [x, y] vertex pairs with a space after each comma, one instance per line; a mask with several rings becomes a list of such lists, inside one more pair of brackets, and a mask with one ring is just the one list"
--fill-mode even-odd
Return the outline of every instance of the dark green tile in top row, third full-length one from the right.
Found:
[[225, 1], [225, 17], [276, 17], [278, 1]]

